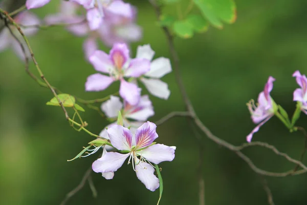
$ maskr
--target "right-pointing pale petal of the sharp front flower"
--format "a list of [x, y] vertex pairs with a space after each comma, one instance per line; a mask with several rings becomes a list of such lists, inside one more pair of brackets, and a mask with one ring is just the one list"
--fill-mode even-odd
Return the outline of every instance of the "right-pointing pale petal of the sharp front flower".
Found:
[[156, 144], [137, 151], [137, 154], [158, 165], [162, 161], [172, 161], [175, 158], [175, 149], [166, 145]]

